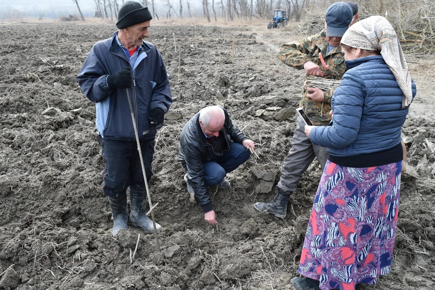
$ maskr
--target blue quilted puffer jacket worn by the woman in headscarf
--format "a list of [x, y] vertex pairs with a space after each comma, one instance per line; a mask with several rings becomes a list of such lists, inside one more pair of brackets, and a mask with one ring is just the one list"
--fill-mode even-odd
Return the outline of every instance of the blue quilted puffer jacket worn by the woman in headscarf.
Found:
[[[331, 100], [332, 126], [317, 126], [312, 143], [328, 147], [334, 156], [374, 153], [400, 143], [408, 108], [402, 109], [402, 90], [381, 56], [345, 62], [347, 72]], [[412, 82], [412, 98], [416, 93]]]

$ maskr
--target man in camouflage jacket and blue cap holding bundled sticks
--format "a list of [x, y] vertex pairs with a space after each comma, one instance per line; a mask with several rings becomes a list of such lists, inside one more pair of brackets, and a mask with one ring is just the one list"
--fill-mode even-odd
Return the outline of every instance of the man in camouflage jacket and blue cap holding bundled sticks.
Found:
[[[278, 52], [278, 58], [285, 64], [295, 69], [305, 69], [307, 75], [323, 77], [323, 71], [319, 53], [325, 59], [329, 70], [338, 73], [341, 80], [346, 71], [344, 53], [341, 52], [340, 40], [349, 27], [353, 18], [352, 9], [345, 2], [331, 4], [326, 10], [325, 30], [319, 34], [305, 38], [301, 41], [289, 42], [282, 45]], [[334, 90], [322, 91], [318, 88], [304, 86], [300, 107], [310, 118], [314, 125], [326, 126], [331, 121], [331, 97]], [[305, 123], [298, 117], [296, 130], [291, 139], [291, 149], [284, 158], [281, 168], [281, 177], [277, 185], [277, 193], [268, 202], [258, 202], [254, 208], [258, 211], [266, 211], [276, 217], [284, 218], [287, 215], [287, 203], [290, 194], [298, 186], [298, 182], [308, 169], [311, 162], [317, 157], [323, 170], [328, 151], [311, 143], [305, 134]]]

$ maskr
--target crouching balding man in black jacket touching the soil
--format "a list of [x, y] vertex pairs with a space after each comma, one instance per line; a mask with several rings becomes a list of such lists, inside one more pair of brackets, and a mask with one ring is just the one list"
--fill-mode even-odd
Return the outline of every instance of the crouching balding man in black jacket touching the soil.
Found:
[[248, 160], [254, 148], [221, 106], [205, 107], [184, 126], [178, 160], [187, 171], [187, 191], [198, 200], [208, 223], [217, 221], [207, 186], [229, 186], [225, 175]]

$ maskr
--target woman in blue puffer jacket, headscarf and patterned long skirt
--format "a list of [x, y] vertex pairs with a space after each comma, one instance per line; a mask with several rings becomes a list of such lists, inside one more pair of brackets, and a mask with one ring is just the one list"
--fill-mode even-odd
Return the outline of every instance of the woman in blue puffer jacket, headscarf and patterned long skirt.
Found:
[[341, 40], [347, 72], [335, 90], [331, 126], [306, 126], [329, 157], [311, 211], [296, 289], [355, 290], [391, 270], [397, 227], [401, 129], [415, 97], [391, 24], [352, 25]]

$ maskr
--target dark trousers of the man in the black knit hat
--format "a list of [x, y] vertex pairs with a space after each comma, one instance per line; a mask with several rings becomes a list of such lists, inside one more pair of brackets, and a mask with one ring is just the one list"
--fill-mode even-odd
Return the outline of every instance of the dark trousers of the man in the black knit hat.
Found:
[[[147, 180], [153, 176], [151, 162], [154, 157], [154, 140], [141, 141], [142, 158]], [[145, 181], [136, 141], [103, 139], [103, 194], [117, 197], [125, 194], [127, 187], [145, 193]]]

